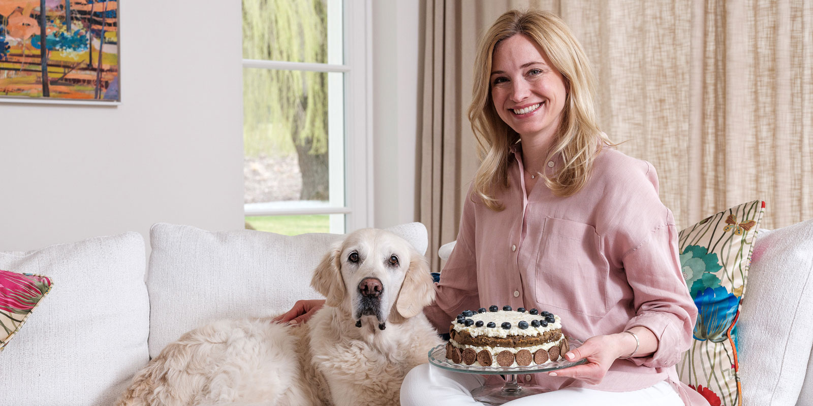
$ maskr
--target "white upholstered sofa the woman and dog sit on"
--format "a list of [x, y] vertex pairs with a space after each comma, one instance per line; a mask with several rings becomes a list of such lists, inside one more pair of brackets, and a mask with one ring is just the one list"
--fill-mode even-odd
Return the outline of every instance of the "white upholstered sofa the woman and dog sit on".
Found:
[[[422, 224], [391, 230], [425, 252]], [[110, 405], [150, 356], [186, 330], [319, 297], [311, 270], [340, 239], [156, 224], [149, 266], [135, 232], [0, 252], [0, 270], [54, 280], [0, 352], [0, 406]], [[760, 232], [740, 318], [746, 406], [813, 405], [811, 276], [813, 220]]]

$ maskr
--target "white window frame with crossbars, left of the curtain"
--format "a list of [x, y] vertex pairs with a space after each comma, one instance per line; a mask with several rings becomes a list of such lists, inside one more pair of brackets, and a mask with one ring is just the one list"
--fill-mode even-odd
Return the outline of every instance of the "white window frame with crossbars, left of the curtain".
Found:
[[[339, 214], [346, 216], [344, 231], [372, 226], [373, 197], [375, 196], [372, 172], [372, 80], [370, 79], [372, 77], [372, 0], [344, 0], [342, 6], [344, 64], [295, 63], [245, 58], [242, 60], [242, 64], [244, 68], [341, 72], [344, 74], [344, 157], [334, 157], [333, 155], [329, 157], [330, 162], [336, 162], [335, 158], [339, 158], [338, 160], [341, 160], [344, 166], [344, 196], [342, 196], [344, 205], [335, 205], [332, 201], [331, 205], [324, 207], [291, 205], [277, 209], [249, 209], [244, 206], [246, 216]], [[328, 153], [331, 150], [330, 147], [331, 145], [328, 145]], [[333, 150], [336, 149], [333, 148]], [[333, 179], [331, 182], [335, 184]], [[331, 195], [333, 196], [334, 193]], [[331, 229], [333, 230], [333, 227]]]

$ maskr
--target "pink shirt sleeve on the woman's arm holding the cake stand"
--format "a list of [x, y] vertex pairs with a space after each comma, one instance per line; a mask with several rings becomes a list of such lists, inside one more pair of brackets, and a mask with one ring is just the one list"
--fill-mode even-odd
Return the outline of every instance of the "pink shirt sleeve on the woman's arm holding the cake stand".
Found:
[[649, 162], [611, 166], [602, 204], [614, 208], [602, 222], [607, 259], [624, 271], [633, 297], [633, 317], [624, 326], [644, 326], [658, 350], [633, 357], [636, 365], [676, 365], [692, 343], [698, 310], [689, 296], [678, 255], [675, 219], [659, 197], [658, 174]]

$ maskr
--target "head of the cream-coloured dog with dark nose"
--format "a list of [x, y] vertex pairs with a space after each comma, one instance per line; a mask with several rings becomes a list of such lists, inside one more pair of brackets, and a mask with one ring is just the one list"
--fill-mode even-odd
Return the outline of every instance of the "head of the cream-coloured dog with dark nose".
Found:
[[346, 309], [359, 322], [374, 316], [381, 329], [387, 320], [414, 317], [435, 297], [426, 258], [398, 235], [374, 228], [335, 244], [316, 266], [311, 286], [326, 305]]

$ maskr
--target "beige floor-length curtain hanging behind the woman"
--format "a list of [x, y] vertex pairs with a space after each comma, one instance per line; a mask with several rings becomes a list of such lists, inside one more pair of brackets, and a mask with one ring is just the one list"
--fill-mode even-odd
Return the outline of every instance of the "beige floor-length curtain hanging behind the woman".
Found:
[[454, 240], [477, 166], [466, 118], [478, 35], [529, 6], [561, 15], [598, 76], [600, 125], [652, 162], [678, 227], [745, 201], [762, 227], [813, 218], [813, 2], [455, 1], [424, 9], [418, 168], [428, 255]]

